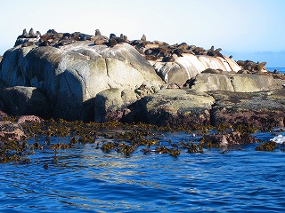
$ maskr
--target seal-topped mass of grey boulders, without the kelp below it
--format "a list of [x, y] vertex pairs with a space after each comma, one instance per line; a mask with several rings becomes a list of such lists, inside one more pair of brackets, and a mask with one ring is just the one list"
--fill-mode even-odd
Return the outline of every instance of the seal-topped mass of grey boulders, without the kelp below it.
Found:
[[85, 122], [283, 127], [285, 76], [220, 48], [23, 30], [0, 65], [0, 108]]

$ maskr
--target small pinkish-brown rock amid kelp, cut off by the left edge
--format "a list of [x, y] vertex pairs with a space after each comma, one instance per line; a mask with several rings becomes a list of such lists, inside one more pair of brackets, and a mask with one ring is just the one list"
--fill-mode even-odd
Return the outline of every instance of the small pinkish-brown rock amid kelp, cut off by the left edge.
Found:
[[1, 141], [20, 141], [26, 138], [24, 130], [15, 122], [0, 122], [0, 140]]

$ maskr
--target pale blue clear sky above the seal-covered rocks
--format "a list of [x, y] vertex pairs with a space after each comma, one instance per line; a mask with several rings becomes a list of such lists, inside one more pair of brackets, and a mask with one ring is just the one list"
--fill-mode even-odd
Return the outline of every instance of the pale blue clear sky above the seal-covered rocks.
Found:
[[285, 0], [0, 0], [0, 55], [23, 28], [110, 33], [221, 47], [233, 59], [285, 67]]

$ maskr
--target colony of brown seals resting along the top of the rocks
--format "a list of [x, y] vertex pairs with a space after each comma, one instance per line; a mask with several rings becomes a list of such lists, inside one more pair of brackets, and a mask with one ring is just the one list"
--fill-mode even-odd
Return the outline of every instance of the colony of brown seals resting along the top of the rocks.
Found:
[[[75, 33], [58, 33], [54, 29], [49, 29], [44, 35], [41, 35], [39, 31], [34, 33], [34, 29], [30, 28], [27, 33], [26, 28], [18, 36], [14, 46], [21, 45], [21, 47], [28, 47], [34, 45], [37, 46], [53, 46], [60, 48], [61, 46], [69, 45], [71, 43], [81, 42], [81, 41], [92, 41], [94, 45], [106, 45], [113, 48], [118, 43], [128, 43], [136, 49], [142, 56], [147, 59], [153, 66], [155, 62], [174, 62], [175, 59], [183, 57], [184, 54], [191, 54], [194, 56], [211, 56], [211, 57], [221, 57], [223, 59], [224, 55], [221, 53], [222, 49], [215, 49], [211, 46], [210, 49], [206, 50], [202, 47], [196, 45], [189, 45], [187, 43], [175, 43], [168, 44], [159, 41], [148, 41], [145, 35], [142, 35], [141, 39], [129, 40], [126, 35], [120, 34], [116, 36], [115, 34], [110, 34], [110, 36], [102, 36], [99, 29], [95, 30], [95, 35], [87, 35], [80, 32]], [[230, 56], [228, 59], [232, 59]], [[240, 66], [240, 74], [262, 74], [266, 73], [265, 69], [266, 62], [254, 62], [251, 60], [238, 60], [237, 64]], [[155, 67], [155, 66], [154, 66]], [[206, 72], [209, 72], [206, 71]], [[210, 73], [221, 73], [221, 70], [211, 70]]]

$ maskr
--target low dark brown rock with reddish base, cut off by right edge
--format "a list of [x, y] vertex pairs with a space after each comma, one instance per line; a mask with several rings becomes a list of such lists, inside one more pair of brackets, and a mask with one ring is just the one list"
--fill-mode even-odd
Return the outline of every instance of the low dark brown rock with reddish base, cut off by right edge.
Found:
[[251, 93], [211, 91], [216, 99], [212, 124], [248, 125], [259, 129], [285, 125], [285, 90]]

